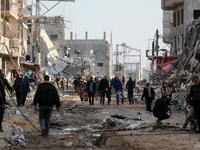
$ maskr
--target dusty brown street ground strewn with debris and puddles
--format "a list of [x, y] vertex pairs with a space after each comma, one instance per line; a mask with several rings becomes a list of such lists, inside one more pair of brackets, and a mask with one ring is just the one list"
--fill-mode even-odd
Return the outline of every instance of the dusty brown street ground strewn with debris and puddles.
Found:
[[[38, 128], [38, 111], [34, 111], [32, 100], [21, 107], [24, 114]], [[74, 109], [71, 107], [77, 105]], [[166, 126], [175, 127], [151, 127], [155, 125], [156, 118], [152, 114], [146, 114], [143, 101], [136, 101], [129, 105], [128, 100], [122, 105], [116, 104], [113, 97], [111, 105], [101, 105], [95, 100], [95, 105], [88, 102], [81, 103], [79, 97], [69, 96], [62, 100], [62, 108], [59, 112], [53, 111], [50, 135], [42, 137], [19, 112], [12, 113], [7, 109], [4, 124], [16, 124], [24, 129], [26, 146], [10, 145], [7, 149], [33, 149], [33, 150], [65, 150], [65, 149], [108, 149], [108, 150], [196, 150], [200, 149], [200, 134], [181, 130], [185, 116], [178, 111], [172, 111], [172, 117], [163, 121]], [[8, 115], [11, 113], [12, 115]], [[104, 118], [112, 115], [120, 115], [126, 119], [126, 127], [119, 124], [101, 124]], [[127, 119], [128, 118], [128, 119]], [[136, 126], [133, 128], [133, 119]], [[138, 120], [137, 120], [138, 119]], [[128, 122], [128, 123], [127, 123]], [[138, 126], [137, 126], [138, 123]], [[149, 126], [141, 129], [139, 127]]]

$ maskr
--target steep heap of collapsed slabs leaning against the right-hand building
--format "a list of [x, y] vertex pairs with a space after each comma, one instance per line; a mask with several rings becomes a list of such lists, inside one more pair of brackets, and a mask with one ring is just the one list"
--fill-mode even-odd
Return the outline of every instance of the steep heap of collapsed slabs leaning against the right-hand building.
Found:
[[178, 60], [174, 62], [172, 72], [181, 71], [197, 73], [200, 71], [200, 17], [186, 28], [185, 48]]

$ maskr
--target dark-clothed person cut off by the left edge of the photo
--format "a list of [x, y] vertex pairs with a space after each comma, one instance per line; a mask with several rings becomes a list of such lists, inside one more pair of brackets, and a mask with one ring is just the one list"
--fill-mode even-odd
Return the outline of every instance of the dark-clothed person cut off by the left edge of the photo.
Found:
[[7, 79], [4, 78], [4, 74], [2, 73], [2, 71], [0, 71], [0, 132], [3, 132], [2, 122], [6, 103], [5, 86], [8, 88], [9, 91], [12, 91], [12, 87], [8, 83]]

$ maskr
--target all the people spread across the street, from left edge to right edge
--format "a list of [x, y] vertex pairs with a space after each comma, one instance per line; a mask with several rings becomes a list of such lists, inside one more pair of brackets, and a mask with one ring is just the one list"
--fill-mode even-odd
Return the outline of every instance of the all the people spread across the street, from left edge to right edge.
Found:
[[[2, 120], [5, 110], [5, 88], [7, 88], [11, 93], [13, 90], [16, 92], [17, 106], [21, 107], [25, 105], [27, 93], [30, 92], [28, 78], [22, 75], [18, 75], [13, 87], [11, 87], [4, 77], [4, 71], [0, 71], [0, 132], [2, 130]], [[188, 110], [188, 115], [183, 125], [183, 128], [186, 128], [188, 123], [196, 123], [194, 129], [199, 129], [200, 133], [200, 79], [198, 76], [193, 77], [194, 84], [191, 86], [190, 93], [187, 97], [187, 103], [190, 105]], [[107, 103], [111, 103], [111, 95], [116, 95], [116, 103], [119, 105], [120, 99], [121, 103], [124, 103], [124, 88], [128, 91], [128, 100], [129, 105], [134, 104], [133, 101], [133, 89], [135, 88], [136, 81], [129, 78], [127, 83], [125, 83], [125, 78], [121, 80], [119, 77], [115, 77], [111, 80], [108, 80], [106, 76], [99, 80], [99, 78], [93, 78], [85, 82], [80, 78], [74, 81], [75, 92], [80, 97], [80, 100], [84, 102], [85, 94], [88, 95], [89, 105], [94, 105], [95, 98], [99, 97], [100, 104], [104, 105], [106, 98]], [[65, 85], [64, 79], [56, 79], [52, 84], [50, 82], [50, 77], [48, 75], [44, 76], [44, 82], [38, 85], [37, 91], [34, 96], [33, 105], [35, 110], [37, 110], [37, 104], [39, 104], [39, 123], [42, 130], [43, 136], [49, 135], [49, 125], [50, 117], [53, 110], [53, 106], [56, 105], [57, 111], [60, 107], [60, 99], [58, 95], [59, 86], [61, 85], [61, 90], [63, 85]], [[113, 89], [113, 90], [112, 90]], [[114, 91], [114, 93], [112, 93]], [[152, 109], [152, 102], [155, 98], [158, 98]], [[170, 101], [172, 99], [172, 91], [167, 86], [166, 82], [162, 83], [160, 87], [160, 95], [156, 95], [154, 89], [151, 87], [150, 83], [146, 83], [145, 88], [143, 89], [143, 94], [141, 100], [145, 99], [146, 103], [146, 113], [153, 113], [154, 117], [157, 118], [156, 122], [158, 125], [162, 124], [162, 120], [168, 119], [171, 116], [171, 106]], [[196, 121], [195, 121], [196, 120]]]

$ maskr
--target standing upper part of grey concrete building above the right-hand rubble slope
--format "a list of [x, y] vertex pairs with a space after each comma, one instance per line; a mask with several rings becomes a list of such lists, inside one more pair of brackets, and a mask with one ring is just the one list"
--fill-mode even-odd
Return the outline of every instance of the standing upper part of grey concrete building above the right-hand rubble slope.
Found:
[[200, 16], [199, 0], [161, 0], [163, 9], [163, 42], [171, 45], [171, 55], [180, 55], [186, 38], [186, 27]]

